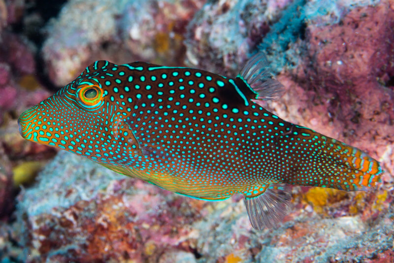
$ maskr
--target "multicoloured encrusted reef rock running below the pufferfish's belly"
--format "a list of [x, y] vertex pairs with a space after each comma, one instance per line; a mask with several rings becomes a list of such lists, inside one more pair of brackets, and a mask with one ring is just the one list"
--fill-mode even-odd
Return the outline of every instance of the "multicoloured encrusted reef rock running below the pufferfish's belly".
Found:
[[[178, 196], [66, 152], [37, 179], [18, 197], [18, 220], [11, 234], [25, 248], [20, 261], [319, 262], [392, 257], [393, 191], [305, 192], [296, 187], [294, 207], [284, 223], [259, 232], [252, 230], [242, 198], [204, 202]], [[350, 212], [351, 206], [357, 208]]]

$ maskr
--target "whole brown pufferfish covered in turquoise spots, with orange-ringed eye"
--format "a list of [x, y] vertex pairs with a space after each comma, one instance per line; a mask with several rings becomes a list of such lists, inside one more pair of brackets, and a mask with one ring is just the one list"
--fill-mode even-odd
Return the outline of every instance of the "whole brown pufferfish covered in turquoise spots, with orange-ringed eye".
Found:
[[289, 185], [366, 190], [379, 163], [262, 106], [283, 85], [262, 53], [235, 78], [201, 69], [97, 61], [19, 118], [22, 136], [203, 200], [245, 197], [252, 226], [272, 227]]

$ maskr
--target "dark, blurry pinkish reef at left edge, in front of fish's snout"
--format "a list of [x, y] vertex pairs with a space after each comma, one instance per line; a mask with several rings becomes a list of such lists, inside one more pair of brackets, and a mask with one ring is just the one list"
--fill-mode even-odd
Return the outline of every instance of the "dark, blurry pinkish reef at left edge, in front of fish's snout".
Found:
[[0, 1], [0, 220], [11, 218], [17, 194], [13, 168], [56, 153], [21, 139], [18, 132], [19, 114], [50, 95], [37, 77], [34, 44], [13, 31], [22, 23], [25, 7], [24, 0]]

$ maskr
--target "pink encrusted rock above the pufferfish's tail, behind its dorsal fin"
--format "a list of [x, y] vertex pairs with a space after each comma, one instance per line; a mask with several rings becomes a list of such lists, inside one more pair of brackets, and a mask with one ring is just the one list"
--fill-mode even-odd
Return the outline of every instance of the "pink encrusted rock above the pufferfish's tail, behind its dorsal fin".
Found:
[[309, 25], [307, 41], [308, 56], [295, 74], [310, 95], [299, 108], [314, 105], [304, 118], [318, 121], [306, 126], [332, 127], [328, 135], [383, 156], [394, 141], [394, 10], [387, 3], [355, 8], [338, 24]]

